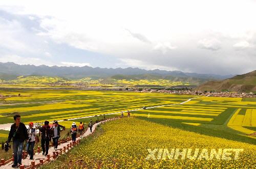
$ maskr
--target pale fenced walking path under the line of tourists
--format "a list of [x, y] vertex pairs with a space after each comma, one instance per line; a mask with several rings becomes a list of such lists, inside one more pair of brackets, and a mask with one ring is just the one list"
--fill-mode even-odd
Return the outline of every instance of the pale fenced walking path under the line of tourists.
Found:
[[[108, 120], [104, 120], [104, 121], [95, 123], [95, 124], [93, 125], [92, 132], [90, 131], [90, 128], [88, 128], [88, 129], [86, 130], [86, 132], [83, 133], [83, 136], [82, 136], [82, 137], [86, 137], [86, 136], [89, 136], [90, 134], [93, 134], [94, 131], [95, 131], [95, 129], [96, 129], [96, 127], [97, 127], [97, 125], [99, 125], [99, 124], [101, 124], [101, 123], [108, 122], [108, 121], [112, 121], [112, 120], [115, 120], [115, 119], [118, 119], [118, 118], [108, 119]], [[81, 139], [80, 137], [77, 137], [77, 138], [76, 138], [76, 140], [80, 140], [80, 139]], [[60, 144], [60, 145], [58, 146], [58, 150], [57, 150], [58, 154], [60, 154], [60, 149], [62, 149], [62, 153], [67, 152], [67, 151], [68, 151], [68, 150], [67, 150], [67, 147], [68, 147], [68, 145], [70, 145], [70, 144], [72, 144], [72, 140], [70, 140], [70, 141], [67, 142], [67, 143]], [[66, 147], [66, 151], [65, 151], [65, 152], [63, 152], [63, 148], [64, 148], [64, 147]], [[48, 151], [48, 154], [52, 156], [54, 152], [55, 152], [54, 148], [53, 148], [53, 147], [50, 147], [50, 148], [49, 148], [49, 151]], [[57, 154], [57, 153], [56, 153], [56, 154]], [[43, 160], [45, 161], [45, 160], [47, 159], [47, 157], [44, 156], [44, 155], [42, 155], [42, 152], [40, 152], [40, 153], [35, 153], [35, 155], [34, 155], [35, 164], [40, 163], [40, 160], [41, 160], [41, 159], [43, 159]], [[53, 160], [53, 158], [50, 158], [50, 160]], [[22, 160], [22, 164], [25, 165], [25, 168], [26, 168], [26, 167], [29, 167], [29, 166], [31, 165], [31, 162], [32, 162], [32, 161], [33, 161], [33, 160], [30, 160], [30, 159], [29, 159], [29, 156], [27, 156], [26, 159], [23, 159], [23, 160]], [[2, 169], [2, 168], [3, 168], [3, 169], [4, 169], [4, 168], [5, 168], [5, 169], [11, 169], [11, 168], [12, 168], [12, 167], [11, 167], [12, 164], [13, 164], [13, 162], [11, 161], [11, 162], [9, 162], [9, 163], [7, 163], [7, 164], [5, 164], [5, 165], [0, 166], [0, 168], [1, 168], [1, 169]]]

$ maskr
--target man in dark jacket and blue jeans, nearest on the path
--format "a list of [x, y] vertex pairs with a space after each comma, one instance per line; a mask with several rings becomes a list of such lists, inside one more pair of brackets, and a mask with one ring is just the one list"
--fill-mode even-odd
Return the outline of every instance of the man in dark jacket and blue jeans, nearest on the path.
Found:
[[16, 167], [18, 165], [22, 165], [22, 151], [24, 141], [29, 138], [28, 130], [24, 123], [20, 122], [20, 116], [15, 115], [13, 117], [15, 123], [12, 124], [11, 130], [9, 132], [7, 144], [13, 142], [13, 154], [14, 154], [14, 162], [12, 167]]

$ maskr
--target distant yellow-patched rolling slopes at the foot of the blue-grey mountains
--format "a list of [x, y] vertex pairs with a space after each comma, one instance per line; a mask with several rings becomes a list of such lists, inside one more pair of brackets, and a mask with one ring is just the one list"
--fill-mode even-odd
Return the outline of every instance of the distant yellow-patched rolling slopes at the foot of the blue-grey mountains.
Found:
[[140, 79], [140, 80], [116, 80], [116, 79], [92, 79], [90, 77], [84, 77], [81, 79], [67, 79], [62, 77], [48, 77], [48, 76], [18, 76], [16, 79], [3, 80], [0, 79], [0, 87], [2, 88], [72, 88], [76, 83], [83, 83], [89, 87], [134, 87], [136, 85], [149, 85], [149, 86], [178, 86], [178, 85], [192, 85], [189, 82], [172, 81], [165, 79]]

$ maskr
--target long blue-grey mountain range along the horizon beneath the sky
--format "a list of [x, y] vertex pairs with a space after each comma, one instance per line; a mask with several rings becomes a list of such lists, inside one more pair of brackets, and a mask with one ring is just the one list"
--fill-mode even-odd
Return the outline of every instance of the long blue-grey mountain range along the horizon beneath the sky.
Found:
[[110, 77], [117, 74], [121, 75], [142, 75], [151, 74], [156, 76], [164, 76], [170, 78], [198, 78], [202, 81], [213, 79], [220, 80], [233, 77], [234, 75], [217, 75], [217, 74], [198, 74], [184, 73], [182, 71], [166, 71], [166, 70], [144, 70], [139, 68], [93, 68], [89, 66], [83, 67], [67, 67], [67, 66], [34, 66], [34, 65], [18, 65], [12, 62], [0, 63], [0, 78], [15, 78], [15, 76], [58, 76], [70, 79], [79, 79], [83, 77]]

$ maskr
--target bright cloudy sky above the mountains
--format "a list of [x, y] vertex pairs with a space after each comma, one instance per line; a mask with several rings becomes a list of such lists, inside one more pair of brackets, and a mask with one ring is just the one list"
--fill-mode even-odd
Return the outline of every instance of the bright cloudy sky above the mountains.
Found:
[[256, 1], [0, 1], [0, 62], [242, 74]]

